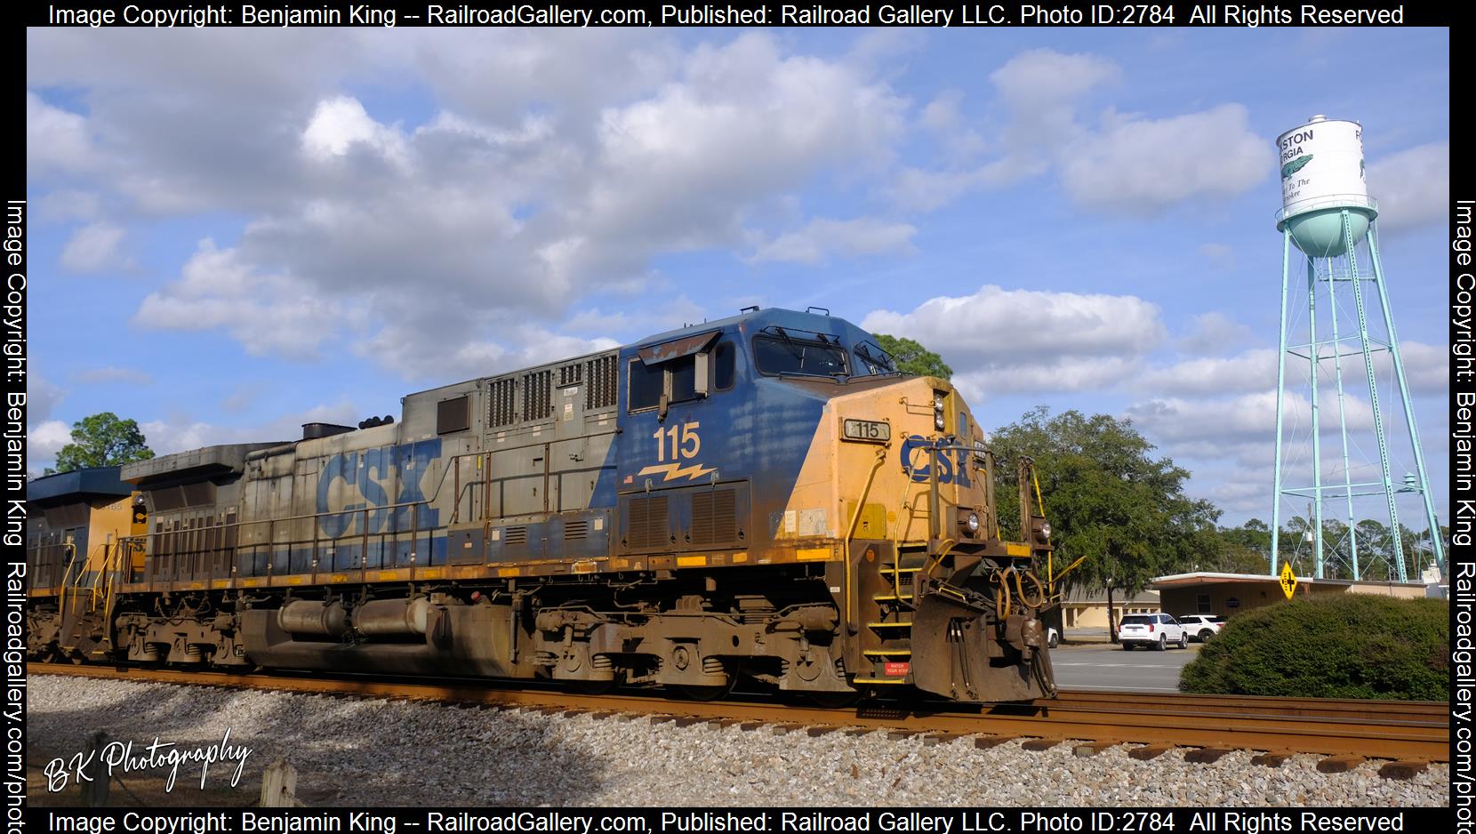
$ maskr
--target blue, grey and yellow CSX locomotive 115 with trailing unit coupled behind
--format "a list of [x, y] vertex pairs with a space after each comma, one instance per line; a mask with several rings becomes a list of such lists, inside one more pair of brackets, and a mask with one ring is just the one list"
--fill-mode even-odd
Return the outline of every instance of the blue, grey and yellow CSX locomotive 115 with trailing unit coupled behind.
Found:
[[1049, 697], [1049, 528], [1001, 539], [993, 469], [946, 381], [824, 310], [747, 309], [410, 394], [397, 421], [32, 481], [30, 648]]

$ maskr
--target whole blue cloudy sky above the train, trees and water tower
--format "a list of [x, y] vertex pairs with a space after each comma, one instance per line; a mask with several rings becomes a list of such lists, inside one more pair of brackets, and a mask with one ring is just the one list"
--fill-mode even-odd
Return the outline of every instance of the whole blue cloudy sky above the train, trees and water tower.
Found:
[[100, 410], [159, 453], [291, 440], [821, 306], [940, 353], [986, 427], [1128, 418], [1222, 523], [1268, 520], [1274, 142], [1327, 114], [1364, 125], [1444, 517], [1449, 92], [1448, 30], [32, 28], [30, 468]]

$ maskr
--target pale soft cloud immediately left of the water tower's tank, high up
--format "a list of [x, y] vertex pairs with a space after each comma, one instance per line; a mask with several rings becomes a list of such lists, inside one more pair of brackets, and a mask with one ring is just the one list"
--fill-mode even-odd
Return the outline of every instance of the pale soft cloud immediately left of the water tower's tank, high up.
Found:
[[1275, 167], [1243, 105], [1150, 120], [1108, 112], [1063, 154], [1061, 183], [1088, 208], [1157, 214], [1204, 196], [1235, 196]]

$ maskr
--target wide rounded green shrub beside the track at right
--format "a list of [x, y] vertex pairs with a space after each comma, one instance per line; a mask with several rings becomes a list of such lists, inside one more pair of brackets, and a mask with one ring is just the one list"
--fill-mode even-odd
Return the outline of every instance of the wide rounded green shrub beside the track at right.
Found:
[[1232, 617], [1179, 689], [1297, 698], [1449, 700], [1449, 602], [1312, 596]]

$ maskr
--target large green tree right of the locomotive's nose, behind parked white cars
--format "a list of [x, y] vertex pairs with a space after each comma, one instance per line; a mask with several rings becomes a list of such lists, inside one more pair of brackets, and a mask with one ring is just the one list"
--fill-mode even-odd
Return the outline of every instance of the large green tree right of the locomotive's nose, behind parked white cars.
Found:
[[1184, 494], [1187, 469], [1154, 458], [1132, 422], [1077, 410], [1051, 416], [1045, 406], [993, 435], [1001, 527], [1018, 539], [1015, 461], [1035, 459], [1051, 540], [1060, 561], [1086, 556], [1063, 585], [1104, 589], [1108, 629], [1117, 639], [1113, 592], [1129, 596], [1154, 577], [1219, 551], [1216, 509]]

